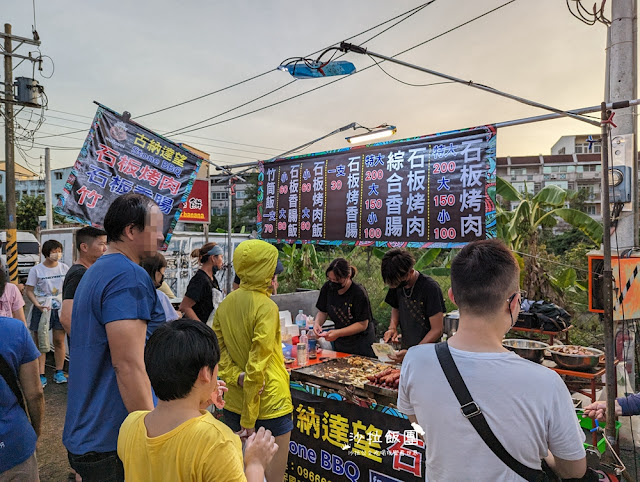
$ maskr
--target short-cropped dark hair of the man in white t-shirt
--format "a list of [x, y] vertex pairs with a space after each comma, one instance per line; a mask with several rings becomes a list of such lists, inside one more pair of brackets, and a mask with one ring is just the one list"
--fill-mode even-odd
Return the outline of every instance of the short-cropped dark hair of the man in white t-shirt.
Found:
[[497, 239], [469, 243], [451, 262], [451, 291], [461, 311], [495, 313], [519, 281], [516, 259]]

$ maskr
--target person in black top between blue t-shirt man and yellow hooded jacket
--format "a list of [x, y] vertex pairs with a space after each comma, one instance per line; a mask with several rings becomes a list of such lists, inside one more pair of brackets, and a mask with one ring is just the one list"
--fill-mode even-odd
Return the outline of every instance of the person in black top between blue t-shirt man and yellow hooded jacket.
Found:
[[198, 258], [200, 269], [193, 275], [187, 291], [180, 303], [180, 311], [185, 317], [206, 323], [213, 311], [213, 292], [220, 291], [215, 274], [222, 268], [222, 248], [216, 243], [207, 243], [191, 253]]

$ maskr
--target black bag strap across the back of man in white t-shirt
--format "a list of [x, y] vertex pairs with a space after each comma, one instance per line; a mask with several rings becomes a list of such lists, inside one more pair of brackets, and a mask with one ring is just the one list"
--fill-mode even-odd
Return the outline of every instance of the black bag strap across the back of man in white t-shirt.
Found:
[[442, 371], [447, 377], [447, 381], [460, 403], [460, 412], [462, 412], [462, 415], [471, 422], [471, 425], [476, 429], [476, 432], [478, 432], [478, 435], [480, 435], [484, 443], [487, 444], [491, 451], [502, 462], [504, 462], [505, 465], [523, 479], [530, 482], [545, 480], [545, 473], [542, 470], [532, 469], [531, 467], [527, 467], [526, 465], [518, 462], [509, 452], [507, 452], [504, 446], [496, 438], [491, 427], [489, 427], [489, 424], [487, 423], [487, 419], [484, 418], [482, 410], [471, 397], [471, 394], [458, 371], [456, 362], [451, 356], [449, 345], [446, 342], [437, 343], [435, 349]]

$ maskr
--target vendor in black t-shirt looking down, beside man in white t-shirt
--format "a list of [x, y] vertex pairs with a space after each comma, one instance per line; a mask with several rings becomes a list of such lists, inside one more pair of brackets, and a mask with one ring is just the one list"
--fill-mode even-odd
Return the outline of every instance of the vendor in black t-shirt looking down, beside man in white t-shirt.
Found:
[[[444, 298], [438, 283], [413, 269], [415, 260], [403, 249], [392, 249], [382, 258], [382, 279], [389, 286], [385, 302], [391, 306], [385, 341], [401, 340], [395, 361], [401, 362], [407, 350], [423, 343], [436, 343], [442, 336]], [[398, 336], [398, 326], [402, 336]]]

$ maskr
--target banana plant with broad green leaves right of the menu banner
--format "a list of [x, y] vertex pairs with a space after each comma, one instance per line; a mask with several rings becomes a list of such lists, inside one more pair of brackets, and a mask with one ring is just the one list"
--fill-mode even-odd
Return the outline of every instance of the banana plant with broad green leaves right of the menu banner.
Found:
[[496, 220], [498, 237], [523, 257], [523, 289], [527, 296], [562, 303], [562, 294], [553, 288], [552, 280], [538, 261], [542, 228], [552, 228], [557, 223], [556, 218], [562, 218], [599, 245], [602, 226], [587, 214], [564, 207], [567, 191], [558, 186], [545, 186], [534, 196], [520, 193], [509, 182], [497, 178], [496, 192], [504, 200], [518, 203], [513, 211], [507, 211], [496, 203]]

